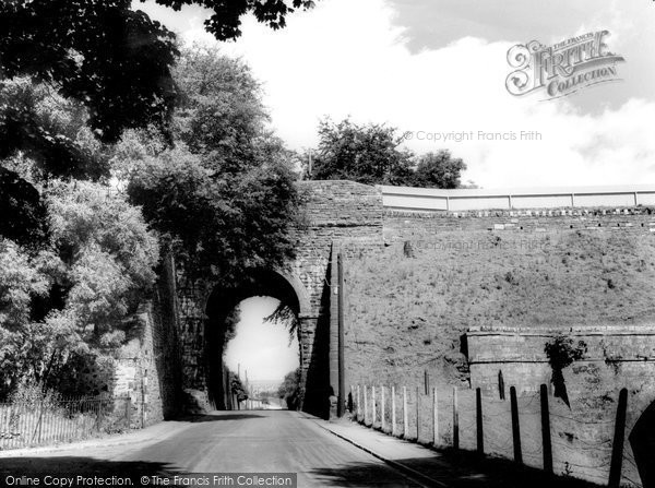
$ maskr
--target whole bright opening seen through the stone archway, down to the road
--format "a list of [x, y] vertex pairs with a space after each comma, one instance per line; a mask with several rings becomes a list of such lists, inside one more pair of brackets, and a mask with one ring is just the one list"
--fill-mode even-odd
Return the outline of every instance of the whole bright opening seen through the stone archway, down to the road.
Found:
[[[290, 381], [298, 378], [300, 367], [297, 321], [294, 317], [275, 320], [281, 306], [272, 297], [251, 297], [237, 305], [238, 321], [228, 333], [224, 364], [248, 398], [236, 405], [233, 400], [233, 408], [281, 409], [297, 405], [297, 392], [290, 391], [297, 388]], [[282, 384], [286, 394], [281, 398], [277, 393]]]

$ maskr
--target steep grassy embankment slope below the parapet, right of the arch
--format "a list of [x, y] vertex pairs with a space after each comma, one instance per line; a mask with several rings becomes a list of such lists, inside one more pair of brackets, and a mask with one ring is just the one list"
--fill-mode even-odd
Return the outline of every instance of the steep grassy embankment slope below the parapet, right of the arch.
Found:
[[[655, 318], [655, 236], [450, 231], [346, 262], [349, 381], [461, 374], [474, 325], [639, 324]], [[457, 369], [460, 368], [460, 370]]]

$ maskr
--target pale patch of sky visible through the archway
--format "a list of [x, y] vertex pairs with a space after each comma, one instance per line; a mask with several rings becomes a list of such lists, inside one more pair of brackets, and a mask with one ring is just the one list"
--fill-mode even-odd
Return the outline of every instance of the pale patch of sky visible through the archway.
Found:
[[237, 323], [237, 334], [225, 352], [225, 364], [231, 371], [238, 371], [241, 379], [279, 381], [298, 367], [298, 340], [289, 343], [288, 330], [279, 323], [264, 322], [278, 300], [271, 297], [252, 297], [239, 303], [241, 314]]

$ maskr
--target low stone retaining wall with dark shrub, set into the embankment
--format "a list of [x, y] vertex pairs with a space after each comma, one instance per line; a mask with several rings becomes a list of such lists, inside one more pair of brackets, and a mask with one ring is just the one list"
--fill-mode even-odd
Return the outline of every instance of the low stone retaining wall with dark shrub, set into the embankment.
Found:
[[481, 388], [498, 396], [499, 372], [505, 388], [519, 393], [537, 392], [550, 384], [551, 368], [544, 347], [553, 336], [563, 334], [574, 343], [583, 341], [587, 353], [582, 360], [564, 369], [571, 396], [599, 396], [632, 390], [655, 389], [655, 324], [577, 328], [472, 328], [466, 333], [472, 388]]

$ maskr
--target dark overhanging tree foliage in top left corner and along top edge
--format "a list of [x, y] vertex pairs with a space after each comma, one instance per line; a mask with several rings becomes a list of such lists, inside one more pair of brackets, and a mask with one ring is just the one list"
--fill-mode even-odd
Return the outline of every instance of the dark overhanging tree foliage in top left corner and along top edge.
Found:
[[[286, 15], [313, 5], [310, 0], [157, 0], [179, 10], [199, 4], [214, 11], [205, 23], [217, 39], [240, 35], [240, 17], [252, 12], [272, 28], [284, 27]], [[11, 0], [0, 2], [0, 159], [25, 152], [45, 172], [61, 177], [98, 179], [97, 165], [70, 133], [49, 127], [35, 106], [32, 86], [13, 85], [21, 76], [47, 86], [60, 99], [78, 104], [91, 138], [104, 143], [120, 139], [130, 128], [152, 127], [170, 144], [170, 120], [178, 90], [172, 66], [179, 55], [176, 38], [144, 12], [131, 10], [132, 0]], [[93, 154], [98, 155], [98, 152]], [[102, 163], [102, 162], [100, 162]], [[5, 174], [0, 185], [15, 179]], [[10, 193], [10, 191], [13, 191]], [[0, 194], [21, 201], [23, 192], [0, 186]], [[21, 218], [33, 213], [34, 198]], [[13, 205], [21, 206], [21, 205]], [[32, 209], [28, 209], [32, 207]], [[23, 221], [10, 223], [21, 227]], [[5, 226], [7, 227], [7, 226]], [[2, 229], [0, 229], [2, 230]], [[34, 229], [38, 233], [39, 229]]]

